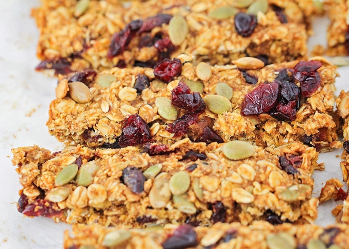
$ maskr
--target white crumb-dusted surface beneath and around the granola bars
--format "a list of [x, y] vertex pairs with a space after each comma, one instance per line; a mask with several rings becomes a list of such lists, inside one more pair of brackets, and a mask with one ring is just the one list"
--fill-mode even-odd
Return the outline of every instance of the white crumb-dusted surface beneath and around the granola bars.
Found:
[[[48, 134], [45, 123], [48, 105], [55, 98], [57, 81], [34, 71], [39, 61], [35, 57], [38, 31], [30, 17], [30, 9], [38, 6], [38, 0], [0, 0], [0, 248], [60, 249], [63, 231], [69, 226], [55, 224], [47, 218], [25, 218], [17, 212], [16, 201], [21, 188], [15, 167], [11, 164], [11, 148], [37, 144], [51, 151], [63, 145]], [[325, 45], [328, 22], [315, 20], [316, 37], [310, 45]], [[349, 90], [346, 75], [349, 68], [339, 69], [337, 93]], [[326, 170], [315, 172], [314, 195], [327, 179], [337, 177], [340, 171], [341, 150], [321, 154], [319, 162], [325, 162]], [[346, 188], [345, 188], [346, 189]], [[331, 210], [335, 202], [319, 207], [317, 224], [334, 223]]]

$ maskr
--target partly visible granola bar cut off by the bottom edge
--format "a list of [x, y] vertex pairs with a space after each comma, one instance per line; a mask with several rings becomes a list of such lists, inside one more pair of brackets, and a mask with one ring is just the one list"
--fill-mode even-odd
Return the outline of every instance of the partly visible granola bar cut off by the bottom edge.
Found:
[[217, 223], [212, 227], [171, 225], [149, 227], [145, 230], [104, 228], [98, 225], [73, 227], [73, 237], [64, 234], [64, 248], [78, 249], [92, 246], [96, 249], [110, 247], [137, 249], [170, 248], [307, 248], [346, 249], [349, 247], [349, 227], [332, 225], [326, 228], [317, 225], [295, 226], [284, 223], [272, 226], [258, 221], [250, 226], [239, 223]]

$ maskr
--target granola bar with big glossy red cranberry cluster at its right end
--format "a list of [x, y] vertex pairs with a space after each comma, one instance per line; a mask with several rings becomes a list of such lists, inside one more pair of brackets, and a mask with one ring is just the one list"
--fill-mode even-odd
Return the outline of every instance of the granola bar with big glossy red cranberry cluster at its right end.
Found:
[[[185, 55], [179, 58], [183, 63], [190, 60]], [[184, 137], [209, 142], [203, 138], [208, 133], [214, 133], [214, 141], [249, 140], [263, 147], [292, 141], [319, 151], [342, 146], [332, 117], [337, 72], [322, 57], [268, 66], [253, 57], [225, 66], [189, 62], [181, 66], [177, 59], [166, 63], [178, 75], [166, 79], [168, 84], [162, 77], [163, 72], [167, 76], [166, 68], [113, 68], [89, 80], [79, 76], [86, 71], [61, 79], [57, 99], [49, 108], [50, 134], [59, 141], [92, 147], [117, 147], [120, 139], [122, 146], [151, 140], [170, 144]], [[178, 71], [172, 68], [175, 63]], [[320, 68], [310, 72], [312, 64]], [[312, 80], [305, 80], [302, 74]], [[83, 99], [76, 97], [75, 86], [71, 86], [76, 79], [89, 87], [82, 83], [83, 89], [76, 87], [86, 92]], [[186, 85], [191, 92], [180, 92]], [[128, 117], [135, 115], [149, 127], [144, 124], [142, 130], [129, 124]], [[147, 135], [125, 142], [131, 128]]]

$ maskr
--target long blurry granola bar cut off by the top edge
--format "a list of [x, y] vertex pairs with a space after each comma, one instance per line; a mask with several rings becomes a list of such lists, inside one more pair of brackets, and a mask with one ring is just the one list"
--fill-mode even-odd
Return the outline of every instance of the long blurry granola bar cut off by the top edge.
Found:
[[268, 63], [303, 59], [314, 10], [312, 0], [84, 2], [43, 0], [33, 9], [42, 60], [37, 70], [153, 67], [180, 53], [212, 65], [246, 55]]

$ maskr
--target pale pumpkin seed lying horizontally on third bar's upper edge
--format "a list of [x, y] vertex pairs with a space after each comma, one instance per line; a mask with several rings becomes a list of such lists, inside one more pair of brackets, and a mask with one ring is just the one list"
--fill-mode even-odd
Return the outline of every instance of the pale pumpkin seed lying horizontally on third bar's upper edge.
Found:
[[241, 160], [252, 156], [255, 152], [254, 146], [246, 141], [234, 140], [222, 146], [223, 154], [230, 160]]

